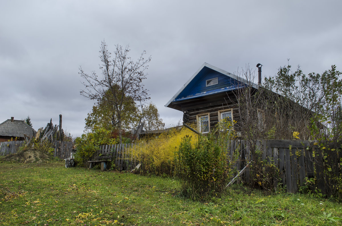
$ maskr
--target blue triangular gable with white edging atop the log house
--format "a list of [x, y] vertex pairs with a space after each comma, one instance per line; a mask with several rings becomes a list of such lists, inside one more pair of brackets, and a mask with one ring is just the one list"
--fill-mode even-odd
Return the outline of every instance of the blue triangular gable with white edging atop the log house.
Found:
[[[218, 84], [206, 86], [207, 80], [214, 79], [216, 77], [218, 78]], [[176, 104], [178, 101], [235, 90], [246, 85], [251, 85], [254, 88], [258, 88], [258, 85], [254, 83], [250, 84], [247, 80], [236, 76], [235, 74], [216, 68], [209, 63], [203, 63], [203, 65], [165, 106], [174, 108], [174, 104]]]

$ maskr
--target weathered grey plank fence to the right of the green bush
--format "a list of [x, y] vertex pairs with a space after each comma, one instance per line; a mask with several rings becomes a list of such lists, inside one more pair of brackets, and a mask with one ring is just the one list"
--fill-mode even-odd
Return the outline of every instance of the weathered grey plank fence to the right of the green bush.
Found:
[[[326, 194], [326, 184], [324, 181], [323, 157], [320, 152], [313, 149], [314, 141], [302, 140], [263, 140], [257, 141], [257, 150], [252, 152], [245, 140], [232, 141], [230, 146], [230, 158], [236, 159], [233, 169], [235, 175], [243, 169], [246, 164], [253, 159], [252, 153], [261, 155], [261, 159], [267, 163], [272, 163], [279, 169], [281, 183], [286, 185], [287, 193], [296, 193], [305, 178], [315, 178], [316, 186], [322, 194]], [[234, 156], [238, 154], [238, 156]], [[342, 156], [337, 156], [340, 159]], [[341, 160], [340, 160], [341, 161]], [[341, 164], [341, 162], [340, 162]], [[337, 168], [337, 174], [341, 174], [341, 167]], [[239, 176], [238, 182], [249, 183], [254, 180], [255, 173], [250, 169]]]

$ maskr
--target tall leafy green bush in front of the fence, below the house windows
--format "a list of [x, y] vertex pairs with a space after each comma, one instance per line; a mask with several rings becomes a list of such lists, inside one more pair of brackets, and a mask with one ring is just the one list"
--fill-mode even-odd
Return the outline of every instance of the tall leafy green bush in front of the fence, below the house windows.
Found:
[[[229, 125], [230, 128], [231, 124]], [[229, 131], [229, 132], [227, 132]], [[227, 184], [232, 162], [227, 159], [227, 142], [233, 133], [222, 124], [208, 136], [199, 135], [195, 144], [185, 136], [175, 153], [176, 175], [181, 194], [192, 199], [208, 199], [220, 195]]]

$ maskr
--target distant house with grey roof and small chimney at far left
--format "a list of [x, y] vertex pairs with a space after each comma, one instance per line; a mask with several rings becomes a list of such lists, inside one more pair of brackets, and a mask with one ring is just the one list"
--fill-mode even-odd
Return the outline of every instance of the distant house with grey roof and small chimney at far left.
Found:
[[9, 140], [27, 140], [36, 134], [36, 131], [24, 120], [7, 119], [0, 124], [0, 143]]

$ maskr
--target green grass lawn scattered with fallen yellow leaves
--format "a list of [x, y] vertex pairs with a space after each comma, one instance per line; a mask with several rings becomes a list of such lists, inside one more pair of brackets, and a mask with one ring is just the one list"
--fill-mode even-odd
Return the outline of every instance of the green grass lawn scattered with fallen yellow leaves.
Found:
[[342, 225], [342, 204], [266, 196], [235, 185], [206, 203], [173, 179], [45, 164], [0, 163], [2, 225]]

